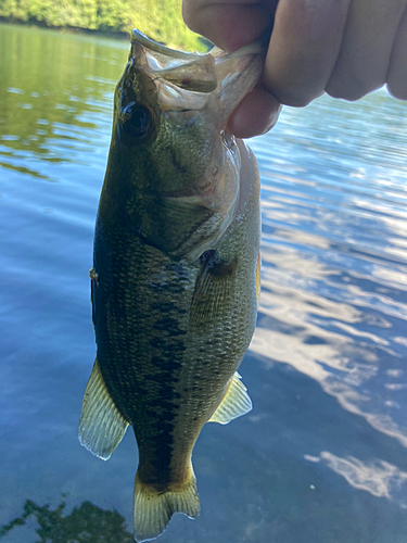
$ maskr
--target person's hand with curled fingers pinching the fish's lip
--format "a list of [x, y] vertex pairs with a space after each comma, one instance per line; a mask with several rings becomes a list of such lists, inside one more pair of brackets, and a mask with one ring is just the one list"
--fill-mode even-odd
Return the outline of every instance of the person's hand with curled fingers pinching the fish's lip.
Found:
[[264, 134], [280, 104], [303, 106], [323, 92], [357, 100], [387, 84], [407, 100], [407, 0], [183, 0], [187, 25], [226, 51], [270, 28], [262, 84], [228, 129]]

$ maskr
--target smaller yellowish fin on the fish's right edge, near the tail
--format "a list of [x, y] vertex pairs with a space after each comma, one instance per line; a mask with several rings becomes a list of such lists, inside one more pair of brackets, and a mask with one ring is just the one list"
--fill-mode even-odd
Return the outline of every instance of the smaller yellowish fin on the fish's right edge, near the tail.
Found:
[[237, 371], [230, 380], [230, 384], [222, 401], [209, 418], [208, 422], [227, 425], [233, 420], [233, 418], [245, 415], [250, 411], [252, 411], [252, 400], [250, 399], [247, 389], [241, 381], [241, 377]]

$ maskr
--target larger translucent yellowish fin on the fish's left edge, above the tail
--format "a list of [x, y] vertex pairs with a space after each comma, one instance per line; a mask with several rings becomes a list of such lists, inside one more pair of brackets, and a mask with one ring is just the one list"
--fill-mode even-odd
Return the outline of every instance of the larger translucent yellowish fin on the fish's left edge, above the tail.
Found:
[[127, 427], [127, 420], [106, 389], [97, 358], [84, 395], [78, 431], [80, 444], [99, 458], [107, 460]]

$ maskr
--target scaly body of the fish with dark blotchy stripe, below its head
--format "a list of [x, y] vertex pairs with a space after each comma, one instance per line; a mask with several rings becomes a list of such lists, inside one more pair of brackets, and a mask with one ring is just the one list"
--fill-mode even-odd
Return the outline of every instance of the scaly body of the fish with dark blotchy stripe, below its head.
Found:
[[[253, 199], [258, 200], [255, 190]], [[253, 220], [252, 210], [247, 212]], [[229, 227], [217, 250], [220, 260], [233, 261], [242, 245], [257, 251], [257, 229], [244, 228], [245, 219], [239, 216]], [[252, 279], [256, 255], [239, 255], [233, 288], [222, 300], [218, 318], [194, 325], [190, 310], [202, 264], [174, 263], [114, 224], [114, 233], [98, 229], [96, 236], [94, 265], [97, 272], [103, 269], [98, 273], [99, 286], [93, 280], [92, 287], [98, 361], [114, 402], [133, 425], [147, 482], [165, 487], [179, 481], [185, 472], [201, 429], [196, 421], [206, 422], [224, 395], [225, 383], [219, 391], [218, 376], [233, 375], [252, 337], [254, 294], [245, 286]], [[99, 252], [103, 265], [99, 265]], [[107, 279], [105, 285], [104, 275], [113, 278], [112, 283]], [[103, 308], [111, 313], [104, 315]], [[243, 324], [250, 314], [247, 329]], [[181, 422], [176, 425], [176, 418]], [[175, 426], [179, 442], [173, 435]]]

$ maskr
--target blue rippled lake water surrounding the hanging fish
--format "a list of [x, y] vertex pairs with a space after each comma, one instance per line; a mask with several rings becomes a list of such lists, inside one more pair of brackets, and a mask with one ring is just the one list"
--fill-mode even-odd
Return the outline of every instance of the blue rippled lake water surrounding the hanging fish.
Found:
[[[77, 440], [129, 47], [2, 25], [0, 50], [0, 538], [130, 542], [132, 432], [106, 463]], [[250, 142], [263, 291], [241, 372], [254, 409], [204, 428], [202, 514], [176, 515], [161, 543], [406, 543], [406, 113], [384, 90], [323, 97]]]

